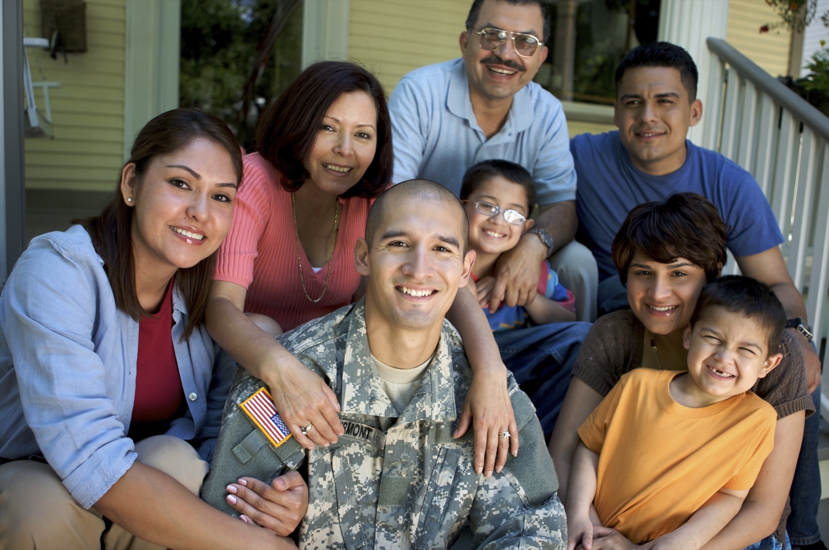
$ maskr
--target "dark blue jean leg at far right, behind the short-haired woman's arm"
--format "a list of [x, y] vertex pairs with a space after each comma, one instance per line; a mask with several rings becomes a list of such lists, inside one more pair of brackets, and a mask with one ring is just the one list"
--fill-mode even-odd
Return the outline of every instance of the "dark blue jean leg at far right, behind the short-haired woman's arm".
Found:
[[806, 419], [803, 426], [803, 442], [797, 467], [794, 470], [792, 489], [792, 514], [788, 516], [786, 530], [792, 537], [793, 546], [806, 546], [821, 539], [817, 527], [817, 507], [821, 504], [821, 472], [817, 466], [817, 437], [821, 429], [821, 387], [812, 393], [816, 413]]

